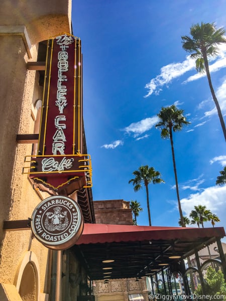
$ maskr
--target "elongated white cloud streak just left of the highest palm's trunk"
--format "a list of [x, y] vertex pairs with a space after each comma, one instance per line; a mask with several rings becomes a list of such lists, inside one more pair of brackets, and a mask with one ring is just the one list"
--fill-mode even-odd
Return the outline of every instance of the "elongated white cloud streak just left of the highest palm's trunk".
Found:
[[152, 78], [151, 81], [145, 85], [145, 88], [148, 89], [148, 94], [145, 97], [148, 97], [155, 93], [161, 91], [161, 87], [170, 83], [174, 78], [180, 77], [185, 72], [194, 69], [195, 64], [194, 60], [190, 56], [186, 57], [182, 63], [171, 63], [161, 68], [161, 73], [155, 78]]

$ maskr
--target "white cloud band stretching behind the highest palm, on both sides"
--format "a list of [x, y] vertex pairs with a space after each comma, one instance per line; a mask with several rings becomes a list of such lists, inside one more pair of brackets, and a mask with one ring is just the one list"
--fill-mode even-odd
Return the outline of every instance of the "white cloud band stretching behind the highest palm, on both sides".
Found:
[[[219, 45], [219, 52], [217, 58], [210, 58], [209, 62], [214, 61], [209, 65], [210, 72], [216, 72], [221, 68], [226, 67], [226, 45]], [[149, 83], [145, 85], [148, 89], [148, 97], [153, 93], [158, 95], [164, 85], [168, 85], [173, 79], [178, 78], [186, 72], [195, 69], [195, 61], [187, 56], [182, 63], [171, 63], [161, 68], [161, 72], [155, 78], [152, 78]], [[189, 76], [183, 83], [191, 82], [205, 76], [205, 73], [195, 73]]]

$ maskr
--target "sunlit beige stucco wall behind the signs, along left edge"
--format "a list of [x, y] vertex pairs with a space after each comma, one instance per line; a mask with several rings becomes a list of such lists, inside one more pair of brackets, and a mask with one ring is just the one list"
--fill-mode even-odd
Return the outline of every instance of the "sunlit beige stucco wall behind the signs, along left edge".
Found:
[[[28, 219], [42, 198], [22, 174], [24, 159], [31, 155], [31, 144], [18, 144], [16, 135], [34, 132], [33, 102], [42, 99], [38, 71], [28, 71], [27, 61], [37, 60], [38, 42], [70, 32], [70, 0], [4, 0], [0, 10], [0, 283], [1, 301], [13, 300], [19, 291], [19, 275], [26, 260], [35, 260], [34, 275], [39, 300], [46, 298], [48, 249], [30, 230], [4, 231], [7, 220]], [[28, 252], [30, 252], [28, 256]], [[25, 260], [26, 259], [26, 260]], [[9, 290], [9, 291], [8, 291]], [[7, 292], [8, 291], [8, 292]], [[8, 294], [8, 297], [7, 297]], [[15, 300], [18, 300], [15, 296]]]

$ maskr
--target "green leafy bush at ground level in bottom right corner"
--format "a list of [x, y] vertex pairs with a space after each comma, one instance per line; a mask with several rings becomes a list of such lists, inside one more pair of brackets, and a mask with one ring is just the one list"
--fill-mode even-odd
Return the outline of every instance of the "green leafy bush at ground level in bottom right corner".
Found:
[[[199, 295], [203, 294], [200, 284], [198, 285], [194, 293]], [[223, 295], [224, 299], [226, 298], [226, 283], [224, 282], [223, 273], [221, 272], [221, 270], [218, 270], [216, 272], [215, 269], [211, 266], [207, 268], [204, 293], [210, 296]]]

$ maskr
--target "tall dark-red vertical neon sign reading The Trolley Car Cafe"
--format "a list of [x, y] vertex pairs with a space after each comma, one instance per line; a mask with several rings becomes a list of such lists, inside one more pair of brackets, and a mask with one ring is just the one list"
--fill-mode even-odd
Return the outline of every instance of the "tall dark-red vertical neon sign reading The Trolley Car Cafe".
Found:
[[38, 154], [26, 157], [23, 170], [41, 190], [91, 187], [82, 111], [81, 41], [64, 34], [48, 41]]

